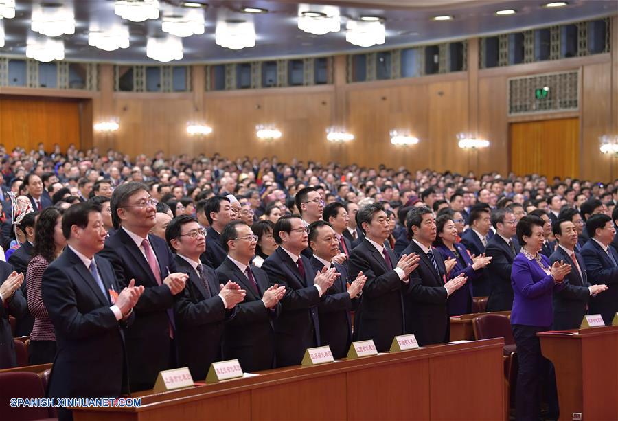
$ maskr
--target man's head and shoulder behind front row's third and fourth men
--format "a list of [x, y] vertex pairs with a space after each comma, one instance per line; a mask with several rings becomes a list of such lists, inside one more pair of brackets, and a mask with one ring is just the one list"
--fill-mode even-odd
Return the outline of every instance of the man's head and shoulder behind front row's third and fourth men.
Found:
[[208, 199], [204, 213], [210, 226], [206, 229], [206, 251], [200, 256], [200, 260], [212, 269], [217, 269], [227, 256], [220, 236], [225, 225], [236, 218], [236, 212], [232, 209], [229, 198], [213, 196]]

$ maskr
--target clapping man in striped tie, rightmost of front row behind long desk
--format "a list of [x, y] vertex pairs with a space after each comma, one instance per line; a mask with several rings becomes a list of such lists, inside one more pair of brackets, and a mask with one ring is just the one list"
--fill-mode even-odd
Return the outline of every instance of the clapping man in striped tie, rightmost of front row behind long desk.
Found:
[[428, 207], [415, 207], [406, 217], [408, 234], [412, 238], [403, 255], [419, 255], [420, 262], [412, 273], [410, 293], [404, 297], [406, 333], [413, 333], [419, 345], [446, 343], [450, 334], [448, 297], [466, 283], [466, 276], [447, 281], [444, 259], [435, 241], [436, 226], [433, 212]]

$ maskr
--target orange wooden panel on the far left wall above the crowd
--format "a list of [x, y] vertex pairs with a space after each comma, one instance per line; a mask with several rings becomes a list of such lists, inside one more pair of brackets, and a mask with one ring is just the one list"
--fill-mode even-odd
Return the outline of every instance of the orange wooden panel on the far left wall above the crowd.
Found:
[[39, 142], [46, 150], [80, 147], [80, 100], [0, 95], [0, 143], [31, 150]]

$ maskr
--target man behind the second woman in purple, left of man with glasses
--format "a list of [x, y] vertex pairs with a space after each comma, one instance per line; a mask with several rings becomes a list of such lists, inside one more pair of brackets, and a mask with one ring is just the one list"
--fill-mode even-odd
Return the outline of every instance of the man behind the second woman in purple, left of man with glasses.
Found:
[[[461, 235], [461, 242], [464, 243], [466, 249], [472, 255], [481, 255], [485, 253], [485, 247], [489, 241], [490, 226], [492, 218], [488, 207], [473, 206], [470, 209], [468, 216], [468, 224], [470, 228], [464, 231]], [[472, 281], [475, 297], [486, 297], [490, 293], [489, 281], [485, 275], [481, 275]]]

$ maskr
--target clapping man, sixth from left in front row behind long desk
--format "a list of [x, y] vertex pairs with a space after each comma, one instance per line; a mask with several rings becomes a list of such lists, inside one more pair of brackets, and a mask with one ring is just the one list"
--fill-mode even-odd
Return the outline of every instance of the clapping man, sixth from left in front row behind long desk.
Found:
[[[334, 203], [343, 208], [341, 203]], [[358, 307], [358, 301], [360, 301], [358, 296], [367, 280], [365, 275], [359, 273], [356, 280], [352, 282], [345, 265], [333, 262], [332, 259], [339, 255], [339, 244], [330, 223], [318, 220], [309, 225], [309, 247], [313, 251], [311, 258], [313, 269], [321, 271], [323, 268], [334, 267], [339, 273], [339, 277], [328, 288], [326, 298], [318, 307], [320, 341], [322, 345], [330, 346], [332, 355], [336, 359], [345, 357], [350, 349], [350, 343], [352, 343], [350, 310]]]

